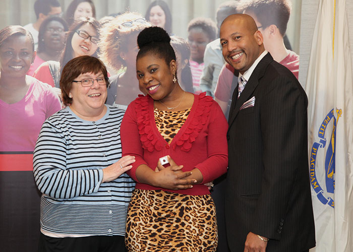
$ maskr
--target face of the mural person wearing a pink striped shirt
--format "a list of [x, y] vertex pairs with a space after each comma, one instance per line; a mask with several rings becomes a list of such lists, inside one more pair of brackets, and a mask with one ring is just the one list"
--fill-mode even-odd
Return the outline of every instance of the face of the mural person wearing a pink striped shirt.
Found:
[[192, 28], [189, 31], [188, 42], [190, 44], [191, 59], [199, 63], [203, 62], [206, 45], [211, 42], [207, 33], [200, 27]]

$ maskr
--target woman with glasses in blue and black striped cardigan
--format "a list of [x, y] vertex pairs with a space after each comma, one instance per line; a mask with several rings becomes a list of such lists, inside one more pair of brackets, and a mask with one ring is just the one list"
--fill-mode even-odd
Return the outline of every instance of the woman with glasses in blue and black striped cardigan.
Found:
[[124, 251], [135, 161], [121, 158], [124, 110], [105, 105], [107, 71], [91, 56], [63, 69], [65, 109], [43, 123], [33, 155], [41, 197], [39, 251]]

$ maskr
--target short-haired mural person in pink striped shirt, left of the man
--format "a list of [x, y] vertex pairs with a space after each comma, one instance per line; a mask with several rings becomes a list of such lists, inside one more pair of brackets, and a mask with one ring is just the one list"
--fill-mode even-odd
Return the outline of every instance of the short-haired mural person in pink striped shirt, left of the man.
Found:
[[216, 24], [208, 18], [195, 18], [188, 25], [188, 42], [191, 48], [190, 67], [196, 93], [201, 92], [200, 80], [205, 66], [203, 55], [206, 45], [216, 38]]

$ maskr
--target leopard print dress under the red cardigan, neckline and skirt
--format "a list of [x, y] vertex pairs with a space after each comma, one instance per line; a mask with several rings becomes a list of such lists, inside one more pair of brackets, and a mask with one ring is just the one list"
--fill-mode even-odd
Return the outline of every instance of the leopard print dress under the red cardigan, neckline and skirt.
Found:
[[[190, 109], [154, 109], [157, 128], [170, 144]], [[210, 195], [135, 189], [126, 226], [129, 252], [213, 252], [218, 244], [216, 210]]]

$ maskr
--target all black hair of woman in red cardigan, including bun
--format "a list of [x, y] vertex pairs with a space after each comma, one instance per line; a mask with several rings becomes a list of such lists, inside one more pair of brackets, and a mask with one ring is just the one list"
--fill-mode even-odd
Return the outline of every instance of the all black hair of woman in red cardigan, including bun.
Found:
[[153, 26], [143, 29], [137, 36], [137, 44], [140, 48], [137, 59], [152, 53], [163, 58], [168, 66], [172, 59], [176, 60], [170, 37], [163, 28]]

